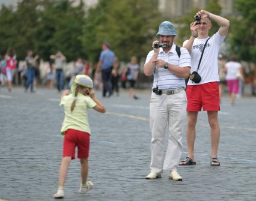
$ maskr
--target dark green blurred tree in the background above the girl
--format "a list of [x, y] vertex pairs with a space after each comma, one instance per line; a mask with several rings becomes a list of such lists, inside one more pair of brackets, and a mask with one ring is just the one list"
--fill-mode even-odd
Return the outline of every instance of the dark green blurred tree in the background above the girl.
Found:
[[58, 50], [69, 61], [86, 56], [79, 39], [85, 24], [84, 4], [81, 1], [74, 7], [72, 3], [69, 0], [41, 2], [35, 45], [44, 59]]

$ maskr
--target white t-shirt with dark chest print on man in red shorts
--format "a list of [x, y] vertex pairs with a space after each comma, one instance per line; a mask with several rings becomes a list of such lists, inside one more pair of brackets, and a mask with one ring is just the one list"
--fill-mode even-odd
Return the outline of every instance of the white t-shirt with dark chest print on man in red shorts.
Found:
[[209, 37], [203, 39], [195, 38], [194, 40], [191, 49], [192, 67], [190, 69], [190, 73], [197, 71], [202, 79], [200, 83], [195, 83], [189, 80], [187, 85], [201, 85], [208, 82], [219, 82], [218, 53], [221, 43], [225, 39], [225, 36], [219, 35], [219, 32], [216, 32], [216, 34], [214, 34], [207, 42], [200, 67], [197, 70], [204, 44], [208, 38]]

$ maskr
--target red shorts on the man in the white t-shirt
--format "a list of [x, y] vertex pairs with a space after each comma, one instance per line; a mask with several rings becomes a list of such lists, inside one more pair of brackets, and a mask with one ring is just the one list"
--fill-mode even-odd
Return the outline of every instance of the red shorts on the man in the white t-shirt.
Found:
[[202, 85], [187, 85], [187, 111], [218, 111], [219, 86], [218, 82], [209, 82]]

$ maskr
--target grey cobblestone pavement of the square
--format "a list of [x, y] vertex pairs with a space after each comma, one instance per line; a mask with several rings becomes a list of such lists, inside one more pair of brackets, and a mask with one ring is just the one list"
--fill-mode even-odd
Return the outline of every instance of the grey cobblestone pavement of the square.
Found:
[[[231, 106], [222, 98], [219, 122], [220, 167], [210, 166], [210, 128], [206, 112], [198, 116], [196, 166], [179, 167], [183, 181], [147, 180], [150, 172], [150, 90], [101, 98], [107, 113], [90, 111], [92, 128], [89, 179], [94, 189], [79, 193], [80, 165], [73, 160], [64, 200], [256, 200], [256, 98]], [[58, 92], [22, 88], [0, 91], [0, 200], [53, 200], [62, 154], [59, 134], [64, 117]], [[186, 136], [183, 135], [186, 156]]]

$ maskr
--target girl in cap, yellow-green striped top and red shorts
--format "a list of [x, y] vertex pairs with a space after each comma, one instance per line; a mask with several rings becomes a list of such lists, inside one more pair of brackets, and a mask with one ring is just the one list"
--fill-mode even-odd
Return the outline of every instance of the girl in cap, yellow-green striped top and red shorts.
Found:
[[87, 181], [91, 136], [87, 109], [93, 108], [97, 112], [106, 112], [103, 104], [94, 95], [93, 80], [85, 75], [76, 76], [71, 87], [71, 93], [68, 90], [62, 92], [60, 105], [64, 106], [66, 115], [61, 128], [64, 142], [63, 158], [59, 169], [59, 187], [57, 193], [53, 195], [54, 198], [64, 197], [67, 169], [71, 160], [75, 159], [76, 146], [78, 147], [82, 178], [79, 193], [87, 193], [93, 188], [93, 182]]

